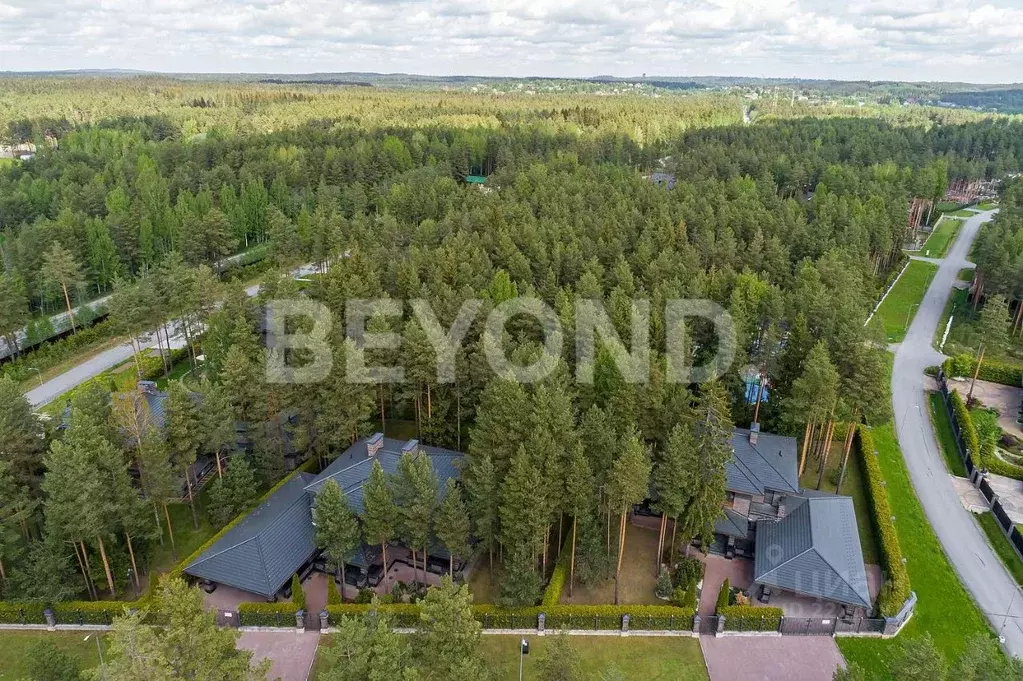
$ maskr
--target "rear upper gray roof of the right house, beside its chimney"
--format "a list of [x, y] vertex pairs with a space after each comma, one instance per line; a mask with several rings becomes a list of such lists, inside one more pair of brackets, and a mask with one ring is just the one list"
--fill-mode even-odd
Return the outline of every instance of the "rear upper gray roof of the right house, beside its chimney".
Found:
[[750, 444], [750, 432], [736, 428], [732, 456], [725, 466], [725, 489], [743, 494], [799, 493], [799, 461], [795, 438], [761, 433]]

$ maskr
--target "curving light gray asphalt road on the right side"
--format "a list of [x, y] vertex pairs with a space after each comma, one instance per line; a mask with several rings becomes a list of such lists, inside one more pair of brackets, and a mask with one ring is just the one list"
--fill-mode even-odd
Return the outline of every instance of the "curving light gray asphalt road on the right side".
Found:
[[943, 359], [932, 342], [952, 284], [961, 269], [971, 267], [967, 261], [970, 245], [981, 223], [991, 216], [992, 212], [978, 213], [967, 220], [941, 261], [905, 339], [895, 352], [892, 405], [902, 456], [928, 521], [963, 584], [994, 631], [1005, 636], [1006, 649], [1023, 655], [1023, 594], [1017, 592], [1016, 582], [960, 502], [934, 437], [924, 389], [924, 369]]

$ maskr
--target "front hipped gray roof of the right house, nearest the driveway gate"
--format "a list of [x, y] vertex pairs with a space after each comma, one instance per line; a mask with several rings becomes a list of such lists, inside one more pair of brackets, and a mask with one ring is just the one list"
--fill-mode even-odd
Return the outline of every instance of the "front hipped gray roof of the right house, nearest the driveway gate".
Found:
[[789, 514], [757, 523], [756, 584], [871, 607], [852, 499], [793, 497]]

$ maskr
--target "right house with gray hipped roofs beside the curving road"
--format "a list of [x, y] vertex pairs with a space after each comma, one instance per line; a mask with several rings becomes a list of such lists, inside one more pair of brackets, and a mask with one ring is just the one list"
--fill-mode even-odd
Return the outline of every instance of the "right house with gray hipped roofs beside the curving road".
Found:
[[871, 608], [849, 497], [803, 490], [795, 438], [736, 428], [712, 551], [754, 559], [753, 584]]

